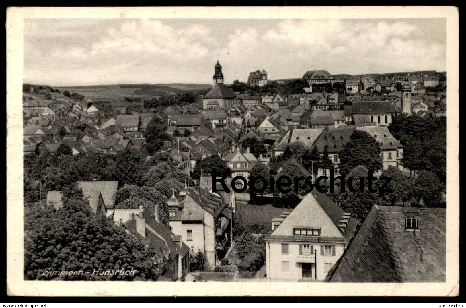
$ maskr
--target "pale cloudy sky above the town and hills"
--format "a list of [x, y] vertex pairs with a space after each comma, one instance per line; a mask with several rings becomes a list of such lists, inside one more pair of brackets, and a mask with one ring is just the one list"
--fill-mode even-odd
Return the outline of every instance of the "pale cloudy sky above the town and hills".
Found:
[[26, 19], [24, 82], [50, 86], [212, 84], [446, 70], [446, 20]]

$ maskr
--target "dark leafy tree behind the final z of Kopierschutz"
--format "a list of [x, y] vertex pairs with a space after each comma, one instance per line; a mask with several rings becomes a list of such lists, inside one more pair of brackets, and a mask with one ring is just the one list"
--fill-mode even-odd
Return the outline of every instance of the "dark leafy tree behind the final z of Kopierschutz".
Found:
[[380, 193], [380, 196], [383, 200], [390, 203], [391, 205], [403, 202], [403, 206], [405, 202], [411, 200], [412, 182], [403, 175], [403, 172], [401, 172], [398, 168], [389, 166], [386, 170], [384, 170], [384, 172], [382, 172], [382, 176], [388, 176], [391, 178], [391, 181], [388, 183], [385, 189], [393, 190], [391, 193]]

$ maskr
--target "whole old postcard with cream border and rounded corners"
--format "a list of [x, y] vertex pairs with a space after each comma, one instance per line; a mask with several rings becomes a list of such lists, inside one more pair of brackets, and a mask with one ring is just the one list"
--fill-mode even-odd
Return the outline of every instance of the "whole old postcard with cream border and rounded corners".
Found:
[[456, 294], [458, 13], [324, 8], [13, 8], [10, 292]]

